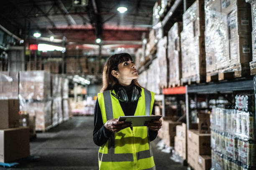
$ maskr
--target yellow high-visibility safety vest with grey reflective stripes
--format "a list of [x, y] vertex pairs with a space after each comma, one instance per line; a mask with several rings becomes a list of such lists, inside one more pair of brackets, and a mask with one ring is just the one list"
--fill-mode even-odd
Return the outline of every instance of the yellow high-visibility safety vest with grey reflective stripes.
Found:
[[[141, 89], [134, 115], [151, 115], [155, 94]], [[118, 99], [111, 95], [110, 90], [98, 93], [98, 102], [103, 123], [125, 116]], [[156, 169], [146, 126], [133, 127], [133, 130], [125, 128], [112, 133], [107, 143], [100, 147], [98, 158], [100, 170]]]

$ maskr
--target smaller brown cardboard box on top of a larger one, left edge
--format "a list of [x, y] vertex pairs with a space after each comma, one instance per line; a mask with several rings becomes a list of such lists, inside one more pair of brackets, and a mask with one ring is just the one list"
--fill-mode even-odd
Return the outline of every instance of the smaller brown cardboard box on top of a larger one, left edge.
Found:
[[0, 129], [19, 127], [19, 100], [0, 100]]

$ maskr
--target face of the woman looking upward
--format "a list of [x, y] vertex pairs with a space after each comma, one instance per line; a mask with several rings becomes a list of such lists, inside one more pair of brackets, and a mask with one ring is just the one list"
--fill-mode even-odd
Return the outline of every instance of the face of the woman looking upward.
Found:
[[138, 71], [133, 61], [125, 61], [118, 64], [118, 74], [120, 81], [133, 80], [138, 78]]

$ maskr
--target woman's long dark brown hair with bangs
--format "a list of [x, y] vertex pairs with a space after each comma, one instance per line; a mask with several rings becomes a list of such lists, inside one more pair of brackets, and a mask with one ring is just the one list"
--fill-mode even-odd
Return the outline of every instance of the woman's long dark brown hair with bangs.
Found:
[[[118, 84], [118, 79], [112, 75], [112, 70], [118, 71], [118, 64], [125, 61], [133, 61], [133, 58], [128, 53], [119, 53], [112, 55], [108, 58], [107, 62], [104, 65], [103, 73], [102, 73], [102, 88], [101, 92], [105, 90], [113, 90], [115, 85]], [[133, 79], [132, 83], [141, 87], [138, 83], [137, 79]]]

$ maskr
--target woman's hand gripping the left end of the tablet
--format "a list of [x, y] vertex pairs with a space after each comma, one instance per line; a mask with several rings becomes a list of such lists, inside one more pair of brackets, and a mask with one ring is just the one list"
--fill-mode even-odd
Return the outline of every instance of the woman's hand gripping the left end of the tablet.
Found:
[[111, 119], [105, 122], [104, 127], [112, 133], [118, 133], [122, 129], [131, 127], [131, 122], [118, 121], [118, 119]]

